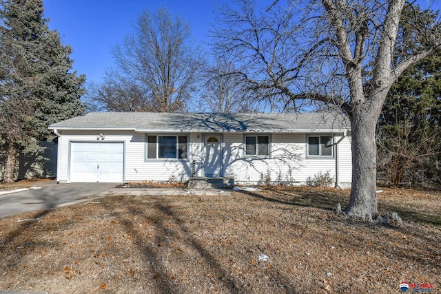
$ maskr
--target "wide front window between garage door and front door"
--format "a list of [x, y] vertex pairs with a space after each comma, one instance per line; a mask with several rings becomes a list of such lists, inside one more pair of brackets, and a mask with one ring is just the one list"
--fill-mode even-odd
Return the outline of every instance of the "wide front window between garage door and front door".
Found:
[[187, 159], [187, 136], [147, 136], [147, 159]]

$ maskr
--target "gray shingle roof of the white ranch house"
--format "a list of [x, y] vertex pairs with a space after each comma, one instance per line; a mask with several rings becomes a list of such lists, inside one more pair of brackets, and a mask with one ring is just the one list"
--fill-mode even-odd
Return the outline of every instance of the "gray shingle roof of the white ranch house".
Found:
[[137, 132], [340, 132], [347, 119], [331, 113], [198, 114], [91, 112], [50, 125], [50, 129], [132, 129]]

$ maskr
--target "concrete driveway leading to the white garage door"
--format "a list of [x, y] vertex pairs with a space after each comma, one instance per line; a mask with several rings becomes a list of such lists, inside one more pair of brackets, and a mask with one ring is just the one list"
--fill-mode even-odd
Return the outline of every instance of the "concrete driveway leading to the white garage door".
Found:
[[55, 180], [39, 182], [36, 186], [41, 189], [1, 195], [0, 218], [25, 211], [47, 210], [85, 201], [92, 196], [111, 190], [116, 185], [118, 184], [107, 182], [72, 182], [70, 184], [57, 184]]

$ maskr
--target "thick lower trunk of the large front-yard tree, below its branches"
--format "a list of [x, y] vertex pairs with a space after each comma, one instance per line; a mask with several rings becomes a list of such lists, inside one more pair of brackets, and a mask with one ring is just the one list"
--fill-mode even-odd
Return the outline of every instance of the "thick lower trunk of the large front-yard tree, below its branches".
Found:
[[352, 185], [348, 216], [371, 220], [378, 213], [376, 196], [376, 107], [357, 107], [351, 114]]

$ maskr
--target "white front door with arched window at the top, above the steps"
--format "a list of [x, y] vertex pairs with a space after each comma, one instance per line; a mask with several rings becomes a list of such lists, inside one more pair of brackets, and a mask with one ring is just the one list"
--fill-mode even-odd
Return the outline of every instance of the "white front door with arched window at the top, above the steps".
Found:
[[205, 135], [205, 176], [222, 175], [222, 145], [220, 135]]

